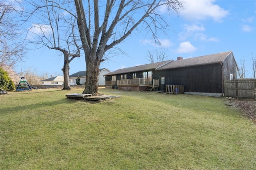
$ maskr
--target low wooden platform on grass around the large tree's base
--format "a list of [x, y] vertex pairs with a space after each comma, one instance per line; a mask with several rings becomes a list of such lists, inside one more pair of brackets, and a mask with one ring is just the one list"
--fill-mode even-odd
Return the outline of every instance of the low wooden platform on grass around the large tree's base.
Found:
[[85, 99], [85, 100], [94, 100], [99, 101], [103, 99], [110, 99], [115, 97], [121, 97], [119, 96], [111, 96], [111, 95], [100, 95], [100, 96], [92, 96], [92, 94], [82, 94], [82, 93], [74, 93], [70, 95], [66, 95], [68, 99]]

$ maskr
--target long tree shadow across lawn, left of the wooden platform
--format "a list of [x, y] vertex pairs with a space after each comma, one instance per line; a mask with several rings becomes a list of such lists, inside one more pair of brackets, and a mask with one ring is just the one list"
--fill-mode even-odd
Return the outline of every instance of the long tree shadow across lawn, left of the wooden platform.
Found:
[[22, 105], [22, 106], [15, 106], [15, 107], [8, 107], [8, 108], [2, 108], [0, 111], [0, 114], [2, 113], [9, 113], [14, 111], [21, 111], [21, 110], [29, 110], [29, 109], [39, 109], [42, 107], [54, 107], [56, 105], [60, 104], [68, 104], [68, 103], [76, 103], [78, 100], [67, 100], [67, 98], [63, 98], [56, 101], [48, 101], [48, 102], [40, 102], [40, 103], [33, 103], [28, 105]]

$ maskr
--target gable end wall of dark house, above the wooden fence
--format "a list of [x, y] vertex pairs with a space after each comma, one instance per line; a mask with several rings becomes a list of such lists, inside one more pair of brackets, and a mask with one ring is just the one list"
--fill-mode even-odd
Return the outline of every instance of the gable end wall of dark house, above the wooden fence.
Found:
[[237, 71], [233, 53], [230, 53], [223, 61], [223, 80], [230, 80], [230, 74], [233, 74], [233, 79], [237, 79]]

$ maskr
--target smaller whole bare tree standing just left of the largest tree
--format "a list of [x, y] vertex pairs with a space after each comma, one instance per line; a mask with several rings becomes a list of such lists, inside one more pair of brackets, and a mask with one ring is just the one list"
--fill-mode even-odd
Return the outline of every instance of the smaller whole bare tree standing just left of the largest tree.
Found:
[[[38, 47], [55, 49], [64, 55], [62, 68], [64, 75], [63, 90], [70, 90], [69, 65], [74, 58], [80, 57], [80, 48], [82, 47], [78, 45], [80, 37], [76, 29], [76, 17], [72, 14], [68, 1], [46, 0], [43, 2], [45, 4], [40, 4], [39, 6], [33, 4], [36, 10], [32, 12], [34, 17], [31, 18], [37, 18], [40, 24], [32, 24], [33, 26], [29, 29], [27, 39], [32, 43], [36, 43]], [[38, 33], [38, 30], [40, 33]], [[34, 35], [32, 36], [32, 34]]]

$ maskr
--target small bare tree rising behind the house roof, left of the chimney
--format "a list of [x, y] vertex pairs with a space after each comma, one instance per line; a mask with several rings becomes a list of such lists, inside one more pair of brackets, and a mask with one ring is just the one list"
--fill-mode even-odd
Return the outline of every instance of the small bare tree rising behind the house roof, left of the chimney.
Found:
[[168, 55], [166, 55], [166, 51], [160, 49], [160, 51], [158, 51], [157, 49], [154, 49], [153, 51], [149, 51], [148, 50], [148, 61], [150, 61], [150, 63], [155, 63], [155, 62], [161, 62], [161, 61], [165, 61], [168, 59]]

